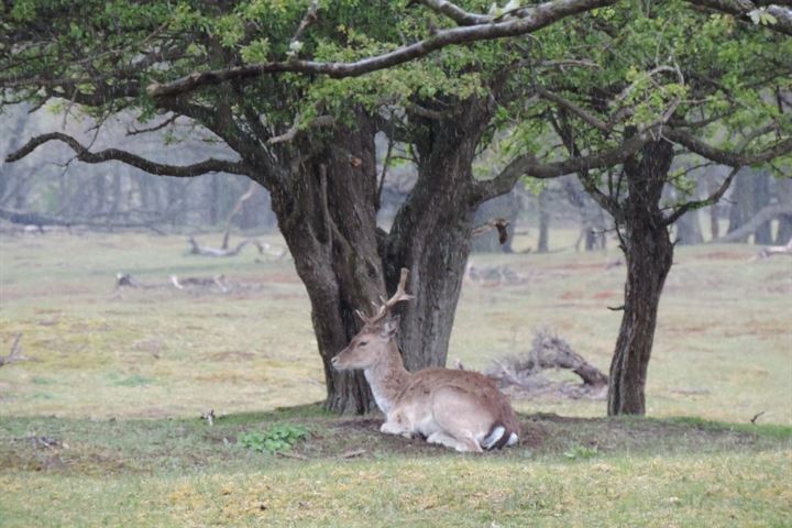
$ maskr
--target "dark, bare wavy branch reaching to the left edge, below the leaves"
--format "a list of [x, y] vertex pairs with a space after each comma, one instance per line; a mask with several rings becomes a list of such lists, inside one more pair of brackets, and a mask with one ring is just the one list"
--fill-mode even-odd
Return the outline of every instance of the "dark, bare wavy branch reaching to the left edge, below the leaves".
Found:
[[132, 154], [127, 151], [118, 148], [107, 148], [97, 153], [88, 152], [82, 144], [70, 135], [52, 132], [48, 134], [37, 135], [31, 139], [24, 146], [18, 151], [11, 153], [6, 157], [7, 163], [13, 163], [22, 160], [31, 152], [35, 151], [38, 146], [50, 141], [61, 141], [66, 143], [77, 154], [77, 160], [85, 163], [103, 163], [109, 161], [118, 161], [131, 165], [133, 167], [145, 170], [146, 173], [155, 174], [158, 176], [176, 176], [176, 177], [191, 177], [200, 176], [207, 173], [231, 173], [231, 174], [244, 174], [251, 176], [249, 167], [241, 162], [229, 162], [224, 160], [209, 158], [200, 163], [193, 165], [167, 165], [163, 163], [155, 163], [150, 160], [145, 160], [141, 156]]

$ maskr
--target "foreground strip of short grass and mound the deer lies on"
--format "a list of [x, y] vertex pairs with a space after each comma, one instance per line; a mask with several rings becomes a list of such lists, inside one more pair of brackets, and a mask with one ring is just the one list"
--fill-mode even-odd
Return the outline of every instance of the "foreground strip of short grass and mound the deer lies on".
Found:
[[[464, 457], [318, 406], [218, 417], [213, 426], [11, 418], [0, 425], [2, 526], [792, 521], [790, 427], [556, 415], [521, 421], [519, 447]], [[288, 458], [243, 440], [286, 430], [310, 431]]]

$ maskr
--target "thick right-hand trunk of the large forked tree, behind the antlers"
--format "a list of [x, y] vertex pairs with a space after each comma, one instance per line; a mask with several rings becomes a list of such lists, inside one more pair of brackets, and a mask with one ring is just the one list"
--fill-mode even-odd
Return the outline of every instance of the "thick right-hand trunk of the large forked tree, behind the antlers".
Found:
[[400, 267], [411, 274], [408, 292], [416, 299], [404, 311], [398, 338], [409, 371], [446, 364], [482, 200], [474, 193], [473, 158], [491, 111], [486, 101], [472, 99], [451, 118], [410, 117], [422, 131], [418, 180], [394, 218], [385, 252], [389, 290]]

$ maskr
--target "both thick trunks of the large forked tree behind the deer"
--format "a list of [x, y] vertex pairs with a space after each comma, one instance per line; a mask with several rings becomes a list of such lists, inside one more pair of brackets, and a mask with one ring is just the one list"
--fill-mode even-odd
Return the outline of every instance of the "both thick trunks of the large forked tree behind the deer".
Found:
[[[407, 289], [416, 296], [395, 310], [405, 365], [446, 364], [480, 205], [472, 162], [486, 119], [474, 116], [473, 123], [461, 112], [449, 119], [460, 122], [427, 124], [418, 180], [389, 233], [376, 228], [376, 128], [363, 112], [355, 129], [333, 130], [324, 146], [309, 138], [315, 154], [284, 178], [288, 185], [272, 186], [273, 210], [311, 301], [330, 410], [375, 408], [362, 373], [337, 372], [330, 360], [360, 329], [354, 310], [371, 314], [372, 301], [395, 290], [402, 267], [410, 270]], [[302, 146], [297, 150], [308, 152]]]

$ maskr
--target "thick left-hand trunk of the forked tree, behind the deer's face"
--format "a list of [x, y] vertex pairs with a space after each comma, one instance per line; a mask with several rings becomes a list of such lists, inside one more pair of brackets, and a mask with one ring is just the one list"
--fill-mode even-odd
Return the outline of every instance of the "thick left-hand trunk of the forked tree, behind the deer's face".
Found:
[[340, 414], [374, 408], [363, 373], [337, 372], [330, 360], [360, 328], [354, 310], [370, 311], [371, 302], [385, 295], [375, 230], [375, 130], [363, 114], [358, 124], [354, 131], [336, 131], [332, 144], [290, 175], [293, 185], [272, 195], [280, 232], [310, 298], [324, 365], [326, 407]]

